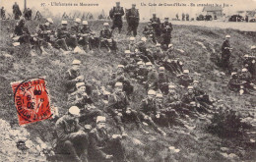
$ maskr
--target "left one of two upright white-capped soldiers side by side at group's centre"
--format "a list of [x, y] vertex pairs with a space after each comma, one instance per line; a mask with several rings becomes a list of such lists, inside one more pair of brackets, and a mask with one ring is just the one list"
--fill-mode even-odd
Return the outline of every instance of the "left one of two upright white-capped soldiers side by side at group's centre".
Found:
[[146, 67], [148, 70], [147, 76], [147, 89], [159, 89], [159, 75], [158, 72], [155, 70], [151, 62], [146, 63]]

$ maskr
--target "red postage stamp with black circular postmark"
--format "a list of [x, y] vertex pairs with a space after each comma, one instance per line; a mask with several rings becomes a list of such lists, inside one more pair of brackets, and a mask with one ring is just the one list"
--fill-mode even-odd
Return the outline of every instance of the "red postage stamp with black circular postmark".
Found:
[[50, 119], [49, 96], [44, 79], [11, 83], [20, 125]]

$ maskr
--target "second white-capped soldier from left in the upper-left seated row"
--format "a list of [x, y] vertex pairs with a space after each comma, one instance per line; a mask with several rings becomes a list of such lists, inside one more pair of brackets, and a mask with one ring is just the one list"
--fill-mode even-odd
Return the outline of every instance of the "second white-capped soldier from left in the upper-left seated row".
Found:
[[68, 31], [68, 22], [67, 21], [61, 21], [61, 27], [57, 28], [57, 44], [61, 47], [62, 50], [68, 51], [68, 45], [66, 43], [66, 39], [69, 36]]

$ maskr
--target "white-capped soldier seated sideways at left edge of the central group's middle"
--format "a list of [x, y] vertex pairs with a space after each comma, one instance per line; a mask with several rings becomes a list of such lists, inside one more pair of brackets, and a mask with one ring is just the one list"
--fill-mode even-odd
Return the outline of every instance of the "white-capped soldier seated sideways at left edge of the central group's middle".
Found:
[[133, 85], [131, 84], [131, 81], [129, 81], [125, 76], [124, 76], [124, 66], [123, 65], [118, 65], [117, 67], [117, 72], [114, 76], [112, 76], [112, 80], [109, 81], [109, 84], [114, 87], [115, 82], [122, 82], [123, 83], [123, 91], [130, 96], [133, 92]]

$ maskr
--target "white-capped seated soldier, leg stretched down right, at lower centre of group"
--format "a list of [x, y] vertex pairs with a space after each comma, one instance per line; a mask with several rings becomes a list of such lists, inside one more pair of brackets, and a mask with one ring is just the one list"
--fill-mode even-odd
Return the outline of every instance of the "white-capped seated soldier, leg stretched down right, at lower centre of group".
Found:
[[156, 91], [149, 90], [147, 98], [143, 99], [141, 102], [140, 118], [142, 121], [151, 125], [156, 132], [160, 133], [161, 135], [166, 135], [154, 122], [154, 120], [157, 118], [156, 115], [158, 115], [160, 112], [155, 97]]

